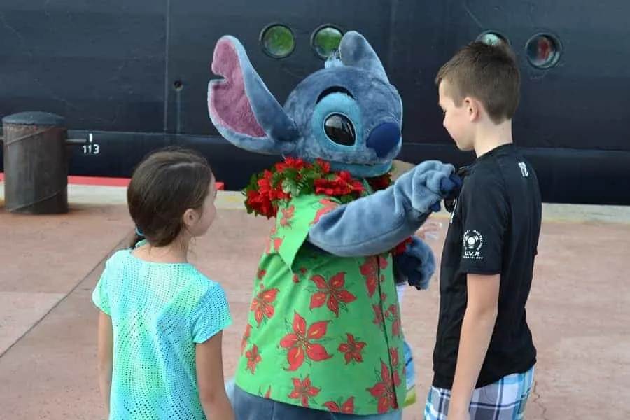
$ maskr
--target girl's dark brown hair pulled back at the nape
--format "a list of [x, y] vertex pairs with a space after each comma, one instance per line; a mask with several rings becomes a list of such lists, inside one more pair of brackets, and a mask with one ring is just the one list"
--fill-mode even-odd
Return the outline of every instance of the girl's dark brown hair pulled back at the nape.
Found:
[[164, 148], [147, 155], [134, 170], [127, 204], [136, 225], [131, 248], [146, 239], [167, 246], [184, 228], [183, 214], [200, 211], [214, 179], [207, 160], [185, 148]]

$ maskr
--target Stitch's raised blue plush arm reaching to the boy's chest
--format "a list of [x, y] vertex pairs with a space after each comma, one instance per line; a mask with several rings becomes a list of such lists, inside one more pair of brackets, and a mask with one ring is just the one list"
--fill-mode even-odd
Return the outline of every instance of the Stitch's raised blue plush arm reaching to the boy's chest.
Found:
[[418, 230], [440, 200], [457, 194], [461, 179], [452, 165], [429, 160], [385, 190], [342, 204], [309, 230], [309, 241], [340, 257], [377, 255]]

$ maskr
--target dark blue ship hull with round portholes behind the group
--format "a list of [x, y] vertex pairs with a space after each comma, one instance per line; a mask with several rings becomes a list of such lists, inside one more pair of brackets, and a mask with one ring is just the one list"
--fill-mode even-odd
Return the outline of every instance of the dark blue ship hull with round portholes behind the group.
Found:
[[[579, 3], [579, 4], [578, 4]], [[255, 69], [283, 102], [323, 62], [309, 45], [318, 26], [355, 29], [370, 40], [405, 104], [409, 162], [463, 165], [442, 128], [433, 78], [461, 45], [498, 31], [519, 56], [517, 144], [537, 169], [545, 202], [630, 204], [630, 3], [558, 0], [491, 6], [486, 1], [335, 0], [3, 0], [0, 5], [0, 116], [49, 111], [66, 118], [77, 146], [71, 174], [129, 176], [141, 157], [171, 144], [207, 154], [229, 189], [244, 186], [274, 157], [218, 136], [207, 113], [216, 40], [237, 36]], [[506, 3], [507, 4], [507, 3]], [[281, 22], [295, 35], [283, 59], [265, 54], [260, 31]], [[528, 62], [537, 33], [561, 42], [549, 69]], [[1, 169], [1, 160], [0, 160]]]

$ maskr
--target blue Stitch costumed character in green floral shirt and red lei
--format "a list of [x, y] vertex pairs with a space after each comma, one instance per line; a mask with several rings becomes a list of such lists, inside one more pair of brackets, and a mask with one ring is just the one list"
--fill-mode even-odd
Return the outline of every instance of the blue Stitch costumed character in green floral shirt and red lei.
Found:
[[[276, 223], [254, 280], [237, 388], [322, 416], [401, 409], [404, 337], [395, 277], [427, 287], [433, 253], [413, 235], [458, 192], [454, 167], [422, 162], [391, 183], [402, 102], [355, 31], [285, 106], [232, 36], [216, 44], [212, 70], [223, 76], [209, 83], [217, 130], [235, 146], [285, 158], [244, 191], [248, 212]], [[246, 419], [271, 419], [234, 404]]]

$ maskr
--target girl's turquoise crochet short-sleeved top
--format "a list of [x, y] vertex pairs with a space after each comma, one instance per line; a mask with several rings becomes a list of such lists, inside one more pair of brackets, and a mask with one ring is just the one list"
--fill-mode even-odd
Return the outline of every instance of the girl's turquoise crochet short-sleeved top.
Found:
[[113, 325], [109, 420], [205, 420], [195, 343], [232, 323], [221, 285], [188, 263], [125, 249], [107, 260], [92, 300]]

